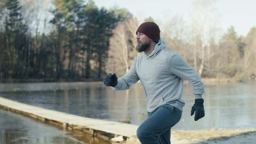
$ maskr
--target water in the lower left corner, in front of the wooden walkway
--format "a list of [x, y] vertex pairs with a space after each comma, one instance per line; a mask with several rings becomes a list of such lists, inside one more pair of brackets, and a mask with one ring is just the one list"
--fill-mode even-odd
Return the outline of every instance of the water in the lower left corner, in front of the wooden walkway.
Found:
[[108, 144], [0, 109], [0, 144]]

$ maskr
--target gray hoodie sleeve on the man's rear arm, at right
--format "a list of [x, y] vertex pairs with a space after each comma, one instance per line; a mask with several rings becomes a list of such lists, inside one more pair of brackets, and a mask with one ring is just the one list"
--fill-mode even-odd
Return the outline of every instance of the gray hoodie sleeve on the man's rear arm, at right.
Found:
[[204, 93], [204, 85], [195, 69], [190, 66], [180, 54], [173, 54], [169, 62], [171, 72], [187, 80], [192, 87], [192, 94], [195, 95], [195, 99], [201, 99]]

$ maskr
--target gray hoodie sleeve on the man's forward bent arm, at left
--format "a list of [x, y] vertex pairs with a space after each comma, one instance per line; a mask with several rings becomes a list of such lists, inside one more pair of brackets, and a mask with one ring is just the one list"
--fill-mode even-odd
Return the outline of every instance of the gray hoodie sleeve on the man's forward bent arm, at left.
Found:
[[139, 80], [136, 72], [135, 61], [136, 58], [133, 61], [129, 71], [118, 79], [118, 84], [115, 87], [111, 87], [113, 90], [127, 90], [132, 84], [136, 83]]

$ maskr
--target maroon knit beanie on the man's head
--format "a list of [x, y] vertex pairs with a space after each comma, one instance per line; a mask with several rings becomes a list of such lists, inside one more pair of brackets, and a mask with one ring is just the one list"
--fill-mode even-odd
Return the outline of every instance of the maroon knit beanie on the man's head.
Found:
[[137, 32], [143, 33], [149, 38], [151, 38], [155, 43], [158, 43], [159, 38], [160, 38], [160, 29], [159, 27], [154, 23], [154, 22], [144, 22], [142, 23], [137, 31]]

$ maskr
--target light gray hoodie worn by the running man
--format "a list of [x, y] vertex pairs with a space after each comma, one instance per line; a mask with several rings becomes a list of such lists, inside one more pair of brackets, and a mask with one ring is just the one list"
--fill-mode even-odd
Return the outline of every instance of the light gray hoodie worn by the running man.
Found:
[[204, 85], [197, 72], [180, 54], [167, 50], [166, 43], [160, 38], [151, 54], [143, 53], [135, 58], [129, 71], [112, 89], [127, 90], [140, 80], [146, 93], [148, 112], [164, 104], [183, 110], [183, 79], [189, 81], [195, 99], [202, 98]]

